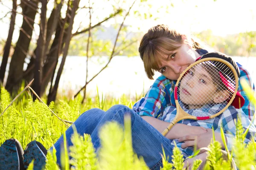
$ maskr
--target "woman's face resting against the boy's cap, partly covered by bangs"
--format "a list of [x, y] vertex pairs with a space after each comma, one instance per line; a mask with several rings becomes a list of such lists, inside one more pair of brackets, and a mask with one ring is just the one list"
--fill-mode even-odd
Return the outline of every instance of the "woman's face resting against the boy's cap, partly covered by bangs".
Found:
[[171, 80], [177, 80], [180, 74], [200, 55], [189, 45], [182, 44], [177, 50], [170, 51], [168, 56], [162, 54], [165, 59], [160, 58], [159, 72]]

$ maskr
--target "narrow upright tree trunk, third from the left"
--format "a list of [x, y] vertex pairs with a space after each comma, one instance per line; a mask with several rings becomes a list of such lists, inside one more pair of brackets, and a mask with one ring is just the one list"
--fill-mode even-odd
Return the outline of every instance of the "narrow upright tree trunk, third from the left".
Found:
[[[40, 34], [38, 37], [38, 48], [35, 51], [35, 81], [34, 81], [34, 91], [36, 94], [38, 94], [39, 97], [41, 97], [41, 83], [42, 83], [42, 75], [43, 75], [43, 60], [45, 56], [45, 45], [46, 45], [46, 28], [47, 28], [47, 22], [46, 22], [46, 11], [47, 11], [47, 1], [41, 0], [41, 21], [40, 21]], [[33, 99], [35, 100], [37, 97], [33, 96]]]

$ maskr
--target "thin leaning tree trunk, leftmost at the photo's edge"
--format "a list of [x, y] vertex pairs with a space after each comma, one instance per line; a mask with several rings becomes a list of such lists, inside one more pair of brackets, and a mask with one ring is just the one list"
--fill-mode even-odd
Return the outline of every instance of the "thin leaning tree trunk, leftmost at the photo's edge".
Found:
[[6, 72], [6, 65], [7, 65], [7, 61], [8, 61], [8, 57], [9, 57], [9, 53], [10, 53], [10, 48], [12, 45], [12, 35], [13, 35], [13, 31], [14, 31], [14, 26], [15, 26], [16, 9], [17, 9], [17, 0], [13, 0], [10, 28], [9, 28], [9, 33], [8, 33], [8, 37], [6, 40], [6, 44], [4, 46], [3, 59], [2, 59], [1, 68], [0, 68], [0, 82], [2, 82], [2, 83], [4, 80], [4, 74]]

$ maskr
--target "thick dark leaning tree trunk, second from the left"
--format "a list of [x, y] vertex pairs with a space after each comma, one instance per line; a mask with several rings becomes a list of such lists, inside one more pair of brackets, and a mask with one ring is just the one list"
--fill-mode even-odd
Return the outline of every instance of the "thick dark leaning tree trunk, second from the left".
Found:
[[[35, 14], [37, 13], [38, 0], [22, 0], [22, 13], [26, 16], [23, 17], [23, 23], [20, 29], [20, 36], [16, 43], [14, 54], [10, 62], [9, 75], [6, 82], [6, 89], [12, 93], [17, 91], [19, 85], [17, 80], [22, 77], [24, 60], [29, 49], [29, 44], [34, 29]], [[25, 4], [26, 3], [26, 4]], [[28, 5], [29, 3], [29, 5]], [[30, 18], [29, 20], [27, 18]]]

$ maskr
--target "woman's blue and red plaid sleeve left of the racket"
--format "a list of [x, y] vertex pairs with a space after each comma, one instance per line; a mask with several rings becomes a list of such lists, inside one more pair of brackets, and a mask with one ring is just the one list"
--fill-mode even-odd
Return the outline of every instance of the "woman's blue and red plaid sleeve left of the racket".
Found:
[[[173, 81], [161, 75], [149, 88], [145, 97], [135, 103], [133, 110], [140, 116], [153, 116], [157, 118], [162, 114], [166, 106], [175, 104], [172, 95], [173, 85]], [[171, 100], [173, 100], [173, 102]]]

